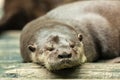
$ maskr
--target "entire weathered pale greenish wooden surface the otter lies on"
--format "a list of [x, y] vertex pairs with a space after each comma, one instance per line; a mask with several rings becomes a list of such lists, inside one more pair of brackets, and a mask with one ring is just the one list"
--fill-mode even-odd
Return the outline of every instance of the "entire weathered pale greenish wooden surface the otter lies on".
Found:
[[120, 64], [86, 63], [72, 69], [50, 72], [33, 63], [22, 63], [20, 32], [0, 36], [0, 80], [120, 79]]

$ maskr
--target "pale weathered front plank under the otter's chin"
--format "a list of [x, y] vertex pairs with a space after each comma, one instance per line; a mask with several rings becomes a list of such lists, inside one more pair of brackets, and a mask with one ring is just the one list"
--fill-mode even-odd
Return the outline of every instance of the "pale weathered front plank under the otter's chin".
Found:
[[120, 64], [86, 63], [80, 67], [50, 72], [33, 63], [0, 63], [1, 78], [120, 79]]

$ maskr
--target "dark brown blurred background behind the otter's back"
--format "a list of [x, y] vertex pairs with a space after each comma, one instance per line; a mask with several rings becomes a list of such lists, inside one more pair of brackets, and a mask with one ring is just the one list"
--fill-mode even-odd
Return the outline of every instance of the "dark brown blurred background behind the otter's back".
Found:
[[21, 30], [51, 9], [74, 1], [78, 0], [0, 0], [0, 33]]

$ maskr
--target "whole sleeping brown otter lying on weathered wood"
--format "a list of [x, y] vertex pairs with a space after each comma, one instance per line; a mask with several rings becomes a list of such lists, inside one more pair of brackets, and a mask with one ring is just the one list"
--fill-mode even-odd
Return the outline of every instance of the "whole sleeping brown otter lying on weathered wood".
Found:
[[33, 20], [20, 37], [24, 62], [60, 70], [85, 62], [118, 59], [119, 5], [117, 0], [78, 1]]

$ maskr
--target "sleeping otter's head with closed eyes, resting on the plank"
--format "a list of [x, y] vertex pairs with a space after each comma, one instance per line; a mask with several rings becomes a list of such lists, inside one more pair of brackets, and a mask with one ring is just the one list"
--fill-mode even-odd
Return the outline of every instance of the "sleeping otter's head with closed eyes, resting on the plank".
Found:
[[60, 29], [57, 29], [43, 29], [39, 32], [36, 43], [28, 45], [32, 61], [44, 65], [48, 70], [70, 68], [84, 63], [83, 36], [73, 35], [69, 30], [59, 32]]

